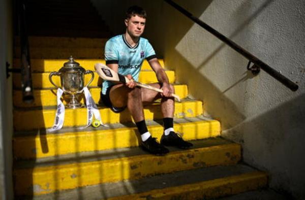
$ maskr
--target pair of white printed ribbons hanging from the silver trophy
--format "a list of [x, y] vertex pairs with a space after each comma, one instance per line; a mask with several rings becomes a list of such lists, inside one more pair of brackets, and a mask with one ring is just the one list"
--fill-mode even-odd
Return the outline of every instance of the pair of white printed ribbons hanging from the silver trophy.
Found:
[[[79, 129], [87, 128], [91, 125], [93, 121], [93, 117], [95, 117], [96, 120], [100, 121], [102, 126], [108, 126], [103, 124], [100, 111], [95, 104], [92, 95], [89, 92], [89, 89], [87, 87], [83, 88], [85, 99], [86, 99], [86, 107], [87, 107], [87, 124], [84, 127], [80, 127]], [[52, 128], [47, 129], [48, 132], [53, 132], [56, 130], [59, 130], [63, 127], [64, 121], [65, 121], [65, 106], [62, 101], [60, 101], [60, 97], [62, 97], [64, 91], [60, 88], [57, 89], [57, 111], [55, 115], [55, 120]]]

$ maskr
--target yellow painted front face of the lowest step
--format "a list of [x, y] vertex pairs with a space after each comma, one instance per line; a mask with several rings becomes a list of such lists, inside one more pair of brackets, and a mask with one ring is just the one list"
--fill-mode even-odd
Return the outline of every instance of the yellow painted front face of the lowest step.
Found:
[[218, 198], [266, 187], [267, 179], [267, 174], [256, 171], [210, 181], [203, 181], [199, 183], [181, 185], [177, 187], [169, 187], [164, 189], [155, 189], [149, 192], [117, 196], [108, 199], [146, 200], [147, 196], [149, 196], [151, 199], [163, 200], [192, 200]]

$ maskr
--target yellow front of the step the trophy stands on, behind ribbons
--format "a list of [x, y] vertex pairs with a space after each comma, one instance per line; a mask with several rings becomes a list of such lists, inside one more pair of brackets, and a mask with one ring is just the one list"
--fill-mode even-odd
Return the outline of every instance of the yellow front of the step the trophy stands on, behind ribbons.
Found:
[[[124, 123], [132, 121], [132, 117], [127, 109], [121, 113], [114, 113], [104, 106], [99, 107], [102, 121], [104, 123]], [[15, 130], [34, 130], [49, 128], [54, 123], [56, 107], [47, 107], [43, 109], [15, 109], [13, 112]], [[184, 99], [182, 102], [175, 102], [175, 118], [197, 117], [202, 115], [202, 102]], [[160, 103], [144, 107], [146, 120], [162, 119]], [[87, 110], [66, 109], [65, 110], [65, 127], [84, 126], [86, 124]]]

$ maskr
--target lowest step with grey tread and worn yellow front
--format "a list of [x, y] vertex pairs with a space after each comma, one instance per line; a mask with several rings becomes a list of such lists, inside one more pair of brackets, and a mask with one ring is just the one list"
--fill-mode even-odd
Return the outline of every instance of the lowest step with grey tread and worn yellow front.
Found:
[[[187, 177], [187, 179], [186, 179]], [[18, 199], [33, 200], [74, 200], [74, 199], [216, 199], [238, 192], [261, 189], [267, 186], [266, 174], [243, 165], [211, 166], [172, 174], [146, 177], [140, 180], [126, 180], [77, 189], [58, 191], [45, 195], [19, 196]], [[224, 197], [222, 199], [281, 199], [279, 195], [262, 195], [261, 192], [249, 192], [253, 195], [241, 198]], [[160, 194], [160, 195], [159, 195]], [[259, 196], [259, 198], [257, 198]], [[263, 197], [263, 198], [261, 198]], [[267, 198], [264, 198], [267, 197]], [[287, 198], [288, 199], [288, 198]]]

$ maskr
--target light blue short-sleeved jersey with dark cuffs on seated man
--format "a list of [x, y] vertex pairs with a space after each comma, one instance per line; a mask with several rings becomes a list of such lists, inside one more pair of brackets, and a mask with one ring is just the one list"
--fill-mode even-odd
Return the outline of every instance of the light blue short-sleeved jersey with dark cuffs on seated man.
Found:
[[[125, 34], [115, 36], [106, 42], [105, 60], [106, 64], [117, 63], [118, 73], [121, 75], [131, 74], [138, 81], [144, 59], [156, 58], [156, 53], [148, 40], [140, 38], [136, 46], [131, 47], [125, 39]], [[106, 94], [110, 81], [103, 82], [102, 93]]]

